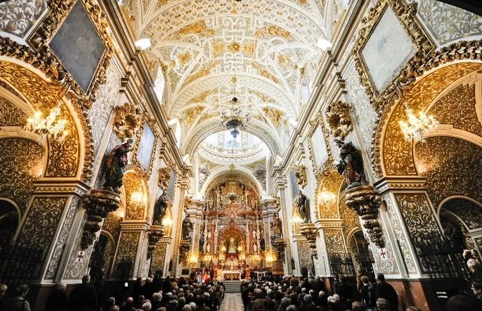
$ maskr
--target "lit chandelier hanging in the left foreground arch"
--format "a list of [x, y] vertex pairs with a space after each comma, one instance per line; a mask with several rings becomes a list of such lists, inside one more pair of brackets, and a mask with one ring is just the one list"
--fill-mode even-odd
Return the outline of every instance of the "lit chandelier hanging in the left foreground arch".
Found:
[[63, 144], [65, 137], [67, 137], [67, 131], [65, 125], [67, 120], [57, 120], [60, 114], [60, 106], [62, 101], [58, 101], [58, 106], [52, 108], [46, 118], [42, 118], [42, 113], [37, 111], [34, 113], [34, 118], [28, 118], [27, 124], [23, 129], [27, 132], [34, 132], [40, 135], [40, 141], [44, 139], [55, 139], [60, 144]]

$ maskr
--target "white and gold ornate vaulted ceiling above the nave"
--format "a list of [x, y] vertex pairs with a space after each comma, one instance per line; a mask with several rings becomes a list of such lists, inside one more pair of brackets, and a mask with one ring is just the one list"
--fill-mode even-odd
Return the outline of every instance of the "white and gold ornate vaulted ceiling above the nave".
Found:
[[[334, 1], [336, 2], [336, 1]], [[237, 106], [248, 131], [282, 150], [318, 67], [316, 42], [327, 38], [325, 0], [124, 1], [154, 72], [166, 78], [166, 112], [182, 127], [183, 151], [219, 130], [219, 115]], [[236, 87], [235, 87], [236, 85]], [[186, 149], [188, 148], [188, 149]]]

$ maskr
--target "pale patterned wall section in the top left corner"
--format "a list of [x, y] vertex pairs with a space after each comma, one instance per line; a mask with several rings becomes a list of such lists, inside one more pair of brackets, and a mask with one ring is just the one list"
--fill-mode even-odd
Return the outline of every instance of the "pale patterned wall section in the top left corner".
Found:
[[3, 2], [0, 4], [0, 31], [23, 38], [46, 9], [44, 0]]

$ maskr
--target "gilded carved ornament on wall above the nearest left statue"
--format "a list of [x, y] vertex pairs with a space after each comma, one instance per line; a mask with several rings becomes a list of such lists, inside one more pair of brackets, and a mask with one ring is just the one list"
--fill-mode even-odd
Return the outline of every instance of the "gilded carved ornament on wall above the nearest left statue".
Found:
[[116, 106], [114, 110], [116, 114], [112, 130], [122, 141], [133, 138], [141, 122], [141, 111], [133, 103], [124, 103]]

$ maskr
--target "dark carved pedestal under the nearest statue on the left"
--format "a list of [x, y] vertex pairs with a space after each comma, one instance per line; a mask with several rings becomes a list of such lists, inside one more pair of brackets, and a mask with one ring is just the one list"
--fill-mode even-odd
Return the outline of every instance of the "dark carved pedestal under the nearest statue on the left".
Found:
[[88, 248], [96, 240], [96, 233], [102, 227], [102, 222], [109, 212], [119, 208], [120, 196], [107, 190], [93, 189], [84, 198], [84, 209], [87, 212], [87, 221], [84, 224], [84, 233], [80, 245], [82, 249]]

